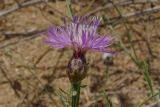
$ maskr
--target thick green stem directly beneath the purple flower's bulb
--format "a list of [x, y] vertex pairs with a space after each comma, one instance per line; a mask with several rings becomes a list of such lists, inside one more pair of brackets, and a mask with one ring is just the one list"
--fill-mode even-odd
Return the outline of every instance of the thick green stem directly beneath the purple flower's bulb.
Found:
[[81, 82], [72, 83], [72, 107], [79, 106]]

